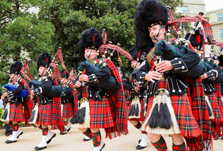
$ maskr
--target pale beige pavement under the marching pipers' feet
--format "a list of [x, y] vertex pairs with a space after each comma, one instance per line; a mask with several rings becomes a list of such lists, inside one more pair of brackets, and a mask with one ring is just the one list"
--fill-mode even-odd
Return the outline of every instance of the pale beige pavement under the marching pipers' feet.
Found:
[[[42, 132], [33, 127], [22, 127], [23, 135], [20, 136], [18, 141], [13, 144], [5, 144], [5, 141], [10, 138], [4, 135], [4, 130], [0, 130], [0, 151], [34, 151], [34, 147], [41, 141]], [[59, 131], [55, 131], [57, 136], [47, 146], [44, 151], [93, 151], [92, 141], [83, 142], [84, 135], [77, 130], [71, 129], [66, 135], [60, 135]], [[136, 151], [140, 132], [129, 123], [129, 134], [114, 138], [112, 140], [106, 138], [103, 130], [102, 140], [105, 142], [103, 151]], [[172, 150], [171, 137], [164, 137], [169, 151]], [[148, 141], [148, 147], [142, 151], [156, 151]], [[214, 140], [214, 151], [223, 151], [223, 140]]]

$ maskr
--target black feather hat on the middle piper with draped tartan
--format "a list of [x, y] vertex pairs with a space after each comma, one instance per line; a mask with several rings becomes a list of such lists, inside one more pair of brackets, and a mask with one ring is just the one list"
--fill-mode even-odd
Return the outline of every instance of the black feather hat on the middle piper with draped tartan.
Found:
[[85, 48], [98, 49], [103, 44], [102, 35], [96, 31], [95, 28], [86, 29], [81, 34], [81, 40], [79, 42], [79, 53], [81, 61], [85, 60], [84, 51]]

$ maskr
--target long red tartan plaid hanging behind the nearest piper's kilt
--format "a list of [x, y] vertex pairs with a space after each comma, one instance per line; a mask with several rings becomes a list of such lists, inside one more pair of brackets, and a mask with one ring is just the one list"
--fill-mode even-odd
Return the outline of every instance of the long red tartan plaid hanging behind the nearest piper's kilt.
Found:
[[188, 150], [208, 150], [212, 148], [211, 121], [205, 101], [204, 88], [201, 78], [185, 77], [188, 96], [193, 115], [201, 128], [202, 136], [198, 138], [186, 138]]

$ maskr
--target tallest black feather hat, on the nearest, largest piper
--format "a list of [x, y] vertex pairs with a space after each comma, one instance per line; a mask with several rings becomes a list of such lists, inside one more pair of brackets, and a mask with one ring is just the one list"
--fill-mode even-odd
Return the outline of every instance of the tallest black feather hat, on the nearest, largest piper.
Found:
[[143, 52], [149, 52], [154, 47], [148, 27], [151, 25], [165, 25], [168, 12], [165, 6], [156, 0], [142, 0], [135, 11], [136, 47]]

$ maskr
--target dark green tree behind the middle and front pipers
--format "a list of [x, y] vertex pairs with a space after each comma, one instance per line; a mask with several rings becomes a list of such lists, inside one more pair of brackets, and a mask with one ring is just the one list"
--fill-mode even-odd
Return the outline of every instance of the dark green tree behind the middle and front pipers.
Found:
[[[128, 51], [135, 44], [134, 12], [140, 0], [45, 0], [40, 7], [41, 19], [50, 21], [55, 27], [53, 41], [62, 47], [68, 67], [79, 63], [78, 42], [81, 32], [96, 27], [105, 28], [108, 41], [120, 43]], [[164, 4], [176, 6], [182, 0], [162, 0]]]

